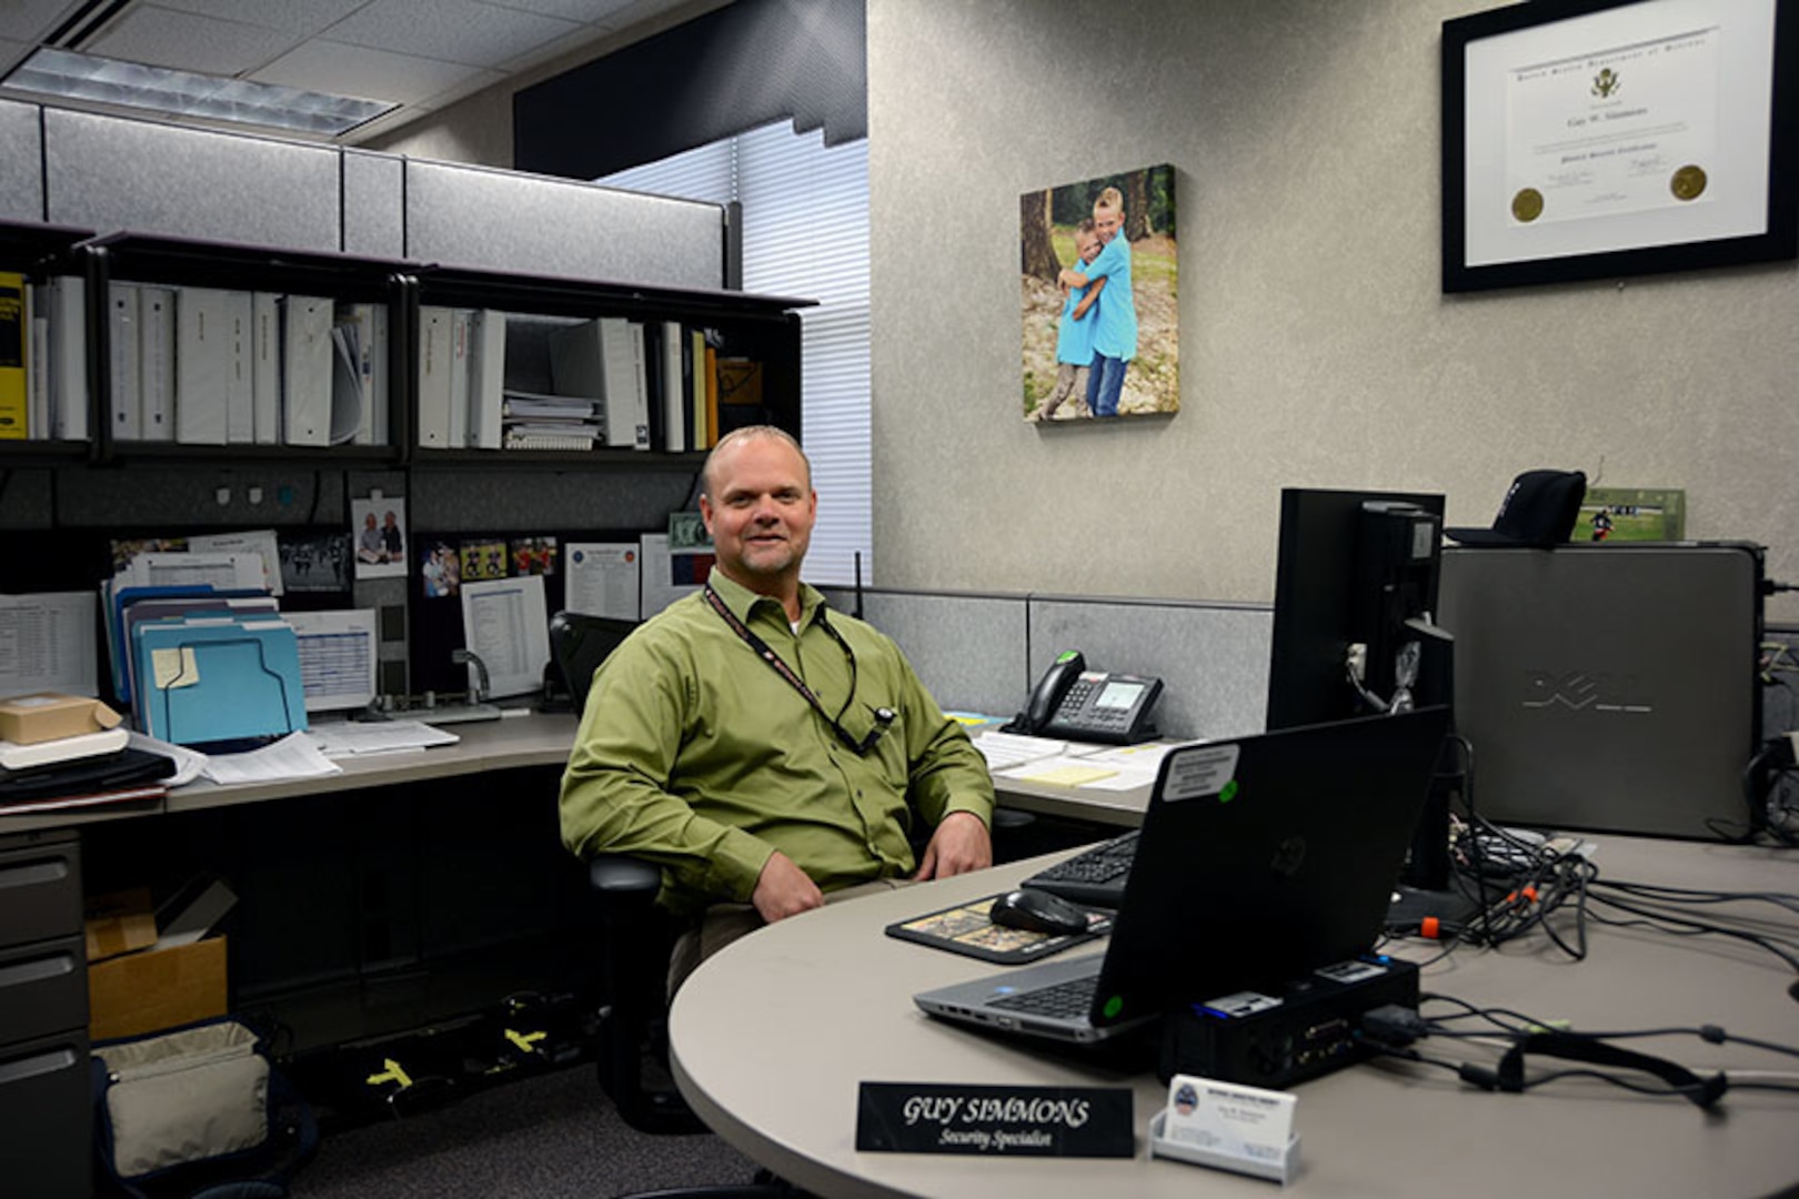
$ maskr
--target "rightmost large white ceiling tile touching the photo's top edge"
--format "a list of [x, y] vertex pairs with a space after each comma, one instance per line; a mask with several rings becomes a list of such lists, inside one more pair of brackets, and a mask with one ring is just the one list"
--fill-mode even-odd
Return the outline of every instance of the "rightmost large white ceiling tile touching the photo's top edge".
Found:
[[372, 0], [331, 27], [333, 41], [498, 67], [576, 25], [480, 0]]

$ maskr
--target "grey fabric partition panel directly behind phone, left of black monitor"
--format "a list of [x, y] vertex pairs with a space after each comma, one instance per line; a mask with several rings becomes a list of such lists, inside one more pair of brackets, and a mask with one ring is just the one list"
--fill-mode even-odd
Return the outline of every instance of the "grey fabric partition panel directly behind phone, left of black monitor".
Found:
[[1155, 724], [1164, 737], [1258, 733], [1268, 714], [1266, 608], [1031, 600], [1031, 678], [1063, 649], [1092, 671], [1162, 679]]

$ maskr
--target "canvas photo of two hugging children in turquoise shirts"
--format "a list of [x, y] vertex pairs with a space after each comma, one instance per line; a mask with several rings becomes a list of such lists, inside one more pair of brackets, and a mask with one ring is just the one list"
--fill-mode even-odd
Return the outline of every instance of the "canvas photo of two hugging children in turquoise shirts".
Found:
[[1025, 421], [1180, 410], [1175, 169], [1018, 198]]

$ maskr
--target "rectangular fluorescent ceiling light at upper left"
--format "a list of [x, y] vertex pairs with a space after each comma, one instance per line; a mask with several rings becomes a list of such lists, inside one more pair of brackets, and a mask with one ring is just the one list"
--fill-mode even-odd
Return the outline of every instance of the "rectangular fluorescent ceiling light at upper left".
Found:
[[50, 47], [34, 50], [0, 81], [0, 88], [333, 137], [399, 108], [383, 101], [196, 75]]

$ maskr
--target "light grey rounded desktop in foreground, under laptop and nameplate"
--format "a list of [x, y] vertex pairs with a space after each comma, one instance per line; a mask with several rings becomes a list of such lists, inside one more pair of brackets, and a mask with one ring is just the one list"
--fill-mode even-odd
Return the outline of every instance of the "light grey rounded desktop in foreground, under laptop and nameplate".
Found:
[[[1777, 850], [1608, 838], [1607, 877], [1675, 886], [1794, 890]], [[1150, 1159], [1142, 1129], [1166, 1102], [1153, 1073], [1119, 1077], [1042, 1057], [1016, 1041], [932, 1021], [910, 996], [997, 967], [882, 935], [896, 919], [1002, 890], [1038, 863], [1013, 863], [923, 888], [806, 913], [747, 937], [687, 980], [671, 1014], [675, 1073], [705, 1122], [792, 1183], [828, 1197], [1155, 1199], [1275, 1194], [1270, 1183]], [[1768, 908], [1768, 911], [1774, 911]], [[1783, 928], [1795, 933], [1795, 920]], [[1723, 1025], [1799, 1044], [1792, 971], [1720, 938], [1592, 929], [1576, 964], [1545, 940], [1455, 951], [1425, 967], [1425, 990], [1513, 1007], [1583, 1030]], [[1430, 947], [1398, 949], [1425, 960]], [[1794, 1071], [1792, 1057], [1695, 1037], [1632, 1041], [1687, 1066]], [[1481, 1046], [1441, 1037], [1450, 1061]], [[1486, 1052], [1491, 1059], [1491, 1052]], [[1137, 1156], [986, 1159], [855, 1150], [856, 1084], [977, 1082], [1130, 1086]], [[1403, 1062], [1364, 1064], [1297, 1088], [1302, 1165], [1293, 1194], [1409, 1195], [1767, 1195], [1799, 1179], [1799, 1095], [1732, 1091], [1722, 1116], [1678, 1098], [1563, 1080], [1526, 1095], [1473, 1091]]]

